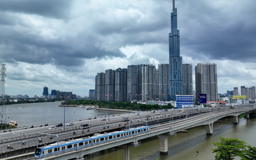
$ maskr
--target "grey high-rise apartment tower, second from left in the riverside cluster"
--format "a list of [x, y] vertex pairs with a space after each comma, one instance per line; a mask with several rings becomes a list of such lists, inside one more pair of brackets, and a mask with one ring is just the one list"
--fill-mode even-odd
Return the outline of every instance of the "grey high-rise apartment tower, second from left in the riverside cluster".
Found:
[[115, 100], [115, 72], [112, 69], [105, 71], [105, 101]]

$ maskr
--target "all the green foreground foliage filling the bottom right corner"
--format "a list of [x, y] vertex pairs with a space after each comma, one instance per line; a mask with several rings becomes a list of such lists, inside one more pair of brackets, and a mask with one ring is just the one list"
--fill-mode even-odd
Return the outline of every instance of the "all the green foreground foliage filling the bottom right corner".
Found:
[[233, 160], [235, 157], [241, 157], [241, 160], [255, 160], [256, 147], [252, 147], [245, 141], [240, 141], [238, 138], [223, 138], [219, 137], [221, 142], [213, 142], [216, 149], [213, 150], [215, 160]]

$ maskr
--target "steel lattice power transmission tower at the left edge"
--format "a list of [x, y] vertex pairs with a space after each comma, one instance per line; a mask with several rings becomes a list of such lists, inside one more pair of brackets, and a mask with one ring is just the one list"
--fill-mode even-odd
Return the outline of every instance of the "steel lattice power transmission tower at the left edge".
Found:
[[0, 130], [7, 129], [7, 122], [6, 122], [6, 106], [5, 106], [5, 74], [6, 68], [5, 64], [2, 64], [1, 68], [1, 84], [0, 84], [0, 101], [1, 101], [1, 128]]

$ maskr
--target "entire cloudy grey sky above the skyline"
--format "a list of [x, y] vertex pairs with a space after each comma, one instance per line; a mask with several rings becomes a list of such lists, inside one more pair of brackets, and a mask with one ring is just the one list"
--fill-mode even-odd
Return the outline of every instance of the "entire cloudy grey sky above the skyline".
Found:
[[[256, 1], [176, 0], [183, 63], [217, 64], [218, 93], [256, 86]], [[171, 0], [1, 0], [5, 94], [88, 96], [95, 75], [168, 62]]]

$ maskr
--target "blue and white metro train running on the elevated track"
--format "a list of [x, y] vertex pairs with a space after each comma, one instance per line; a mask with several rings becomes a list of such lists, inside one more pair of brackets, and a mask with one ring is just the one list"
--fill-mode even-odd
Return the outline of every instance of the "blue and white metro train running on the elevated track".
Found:
[[126, 137], [130, 137], [130, 136], [134, 136], [134, 135], [142, 134], [146, 132], [150, 132], [150, 126], [130, 128], [122, 131], [114, 131], [110, 133], [99, 134], [99, 135], [94, 135], [94, 136], [85, 137], [85, 138], [78, 138], [78, 139], [73, 139], [69, 141], [60, 141], [58, 144], [53, 143], [47, 146], [36, 148], [34, 155], [37, 159], [43, 158], [43, 157], [47, 157], [48, 155], [54, 155], [57, 153], [57, 151], [58, 153], [61, 153], [64, 151], [68, 152], [77, 148], [93, 146], [95, 144], [110, 142], [116, 139], [126, 138]]

